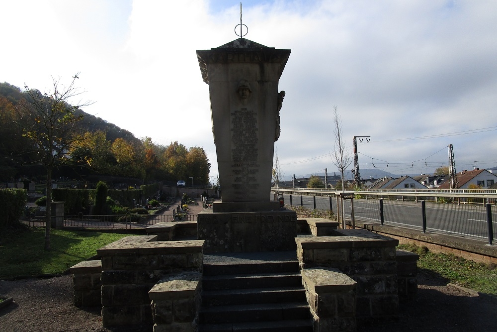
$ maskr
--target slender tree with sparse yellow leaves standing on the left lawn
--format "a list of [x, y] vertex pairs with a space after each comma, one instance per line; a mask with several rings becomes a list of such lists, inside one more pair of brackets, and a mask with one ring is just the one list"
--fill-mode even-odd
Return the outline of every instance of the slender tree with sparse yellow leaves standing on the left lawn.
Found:
[[42, 94], [24, 85], [25, 98], [17, 109], [17, 123], [22, 136], [30, 141], [28, 150], [33, 162], [43, 165], [47, 171], [47, 212], [45, 227], [45, 250], [50, 250], [50, 221], [52, 202], [52, 172], [71, 160], [71, 152], [77, 142], [83, 112], [80, 107], [91, 103], [69, 104], [81, 95], [74, 84], [78, 75], [68, 87], [59, 86], [59, 80], [52, 77], [53, 91]]

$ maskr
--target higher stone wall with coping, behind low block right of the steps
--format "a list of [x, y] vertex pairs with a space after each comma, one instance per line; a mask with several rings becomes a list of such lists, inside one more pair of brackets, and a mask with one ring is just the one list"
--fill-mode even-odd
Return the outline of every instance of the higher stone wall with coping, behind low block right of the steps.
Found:
[[399, 242], [364, 229], [335, 233], [337, 236], [297, 238], [300, 268], [337, 268], [356, 281], [357, 318], [397, 316], [395, 247]]

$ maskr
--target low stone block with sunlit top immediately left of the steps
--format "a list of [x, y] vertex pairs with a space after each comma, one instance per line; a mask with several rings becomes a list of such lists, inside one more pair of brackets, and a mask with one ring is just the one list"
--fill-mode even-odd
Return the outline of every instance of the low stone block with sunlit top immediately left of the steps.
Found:
[[202, 275], [182, 272], [158, 282], [149, 291], [154, 332], [198, 331]]

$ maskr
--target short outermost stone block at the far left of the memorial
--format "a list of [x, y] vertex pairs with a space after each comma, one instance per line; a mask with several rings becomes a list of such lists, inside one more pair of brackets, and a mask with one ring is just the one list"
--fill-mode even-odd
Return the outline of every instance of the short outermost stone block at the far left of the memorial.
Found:
[[75, 307], [101, 307], [102, 262], [85, 260], [70, 268], [73, 274], [73, 304]]

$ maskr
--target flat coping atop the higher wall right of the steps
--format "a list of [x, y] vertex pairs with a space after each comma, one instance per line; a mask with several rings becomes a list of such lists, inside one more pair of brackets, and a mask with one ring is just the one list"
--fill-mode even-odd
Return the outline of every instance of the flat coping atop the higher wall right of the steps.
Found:
[[296, 237], [295, 241], [302, 249], [395, 247], [399, 244], [399, 240], [382, 235]]

